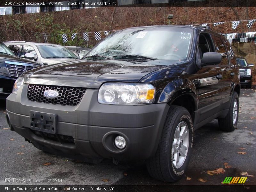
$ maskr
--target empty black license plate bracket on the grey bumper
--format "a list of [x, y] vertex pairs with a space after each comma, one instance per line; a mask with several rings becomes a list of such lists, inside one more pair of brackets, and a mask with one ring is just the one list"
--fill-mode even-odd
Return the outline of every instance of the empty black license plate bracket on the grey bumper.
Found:
[[30, 111], [30, 129], [32, 130], [55, 134], [57, 121], [57, 114]]

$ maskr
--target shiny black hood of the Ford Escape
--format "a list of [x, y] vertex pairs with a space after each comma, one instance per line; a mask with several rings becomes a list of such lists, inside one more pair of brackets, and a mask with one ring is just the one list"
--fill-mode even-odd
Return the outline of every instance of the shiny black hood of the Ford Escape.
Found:
[[103, 82], [139, 82], [143, 76], [181, 61], [79, 60], [28, 71], [26, 84], [47, 84], [98, 89]]

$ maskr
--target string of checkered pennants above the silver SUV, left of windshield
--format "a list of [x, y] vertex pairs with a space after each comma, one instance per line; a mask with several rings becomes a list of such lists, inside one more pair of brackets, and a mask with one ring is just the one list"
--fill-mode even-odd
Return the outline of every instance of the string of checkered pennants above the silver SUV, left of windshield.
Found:
[[[116, 30], [112, 30], [112, 31], [116, 31]], [[95, 32], [84, 32], [84, 33], [66, 33], [66, 34], [57, 34], [62, 36], [62, 40], [63, 43], [67, 43], [68, 42], [68, 35], [71, 35], [71, 41], [74, 41], [77, 34], [83, 34], [83, 39], [84, 41], [89, 41], [89, 33], [94, 33], [94, 37], [97, 41], [101, 40], [101, 32], [104, 33], [105, 36], [107, 36], [111, 31], [95, 31]], [[46, 35], [46, 36], [55, 36], [55, 35]]]

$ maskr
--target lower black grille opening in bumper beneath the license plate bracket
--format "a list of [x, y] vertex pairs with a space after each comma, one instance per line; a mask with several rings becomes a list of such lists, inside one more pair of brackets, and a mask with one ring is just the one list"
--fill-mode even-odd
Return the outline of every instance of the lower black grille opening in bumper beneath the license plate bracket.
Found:
[[31, 130], [35, 135], [44, 138], [45, 140], [59, 141], [60, 143], [75, 143], [74, 138], [68, 135], [51, 134], [41, 131]]

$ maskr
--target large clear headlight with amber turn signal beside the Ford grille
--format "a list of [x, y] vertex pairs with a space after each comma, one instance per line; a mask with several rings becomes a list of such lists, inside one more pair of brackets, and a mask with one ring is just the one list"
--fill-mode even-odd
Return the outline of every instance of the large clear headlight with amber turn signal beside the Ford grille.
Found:
[[98, 101], [102, 104], [140, 105], [152, 103], [154, 98], [152, 84], [105, 83], [98, 94]]

